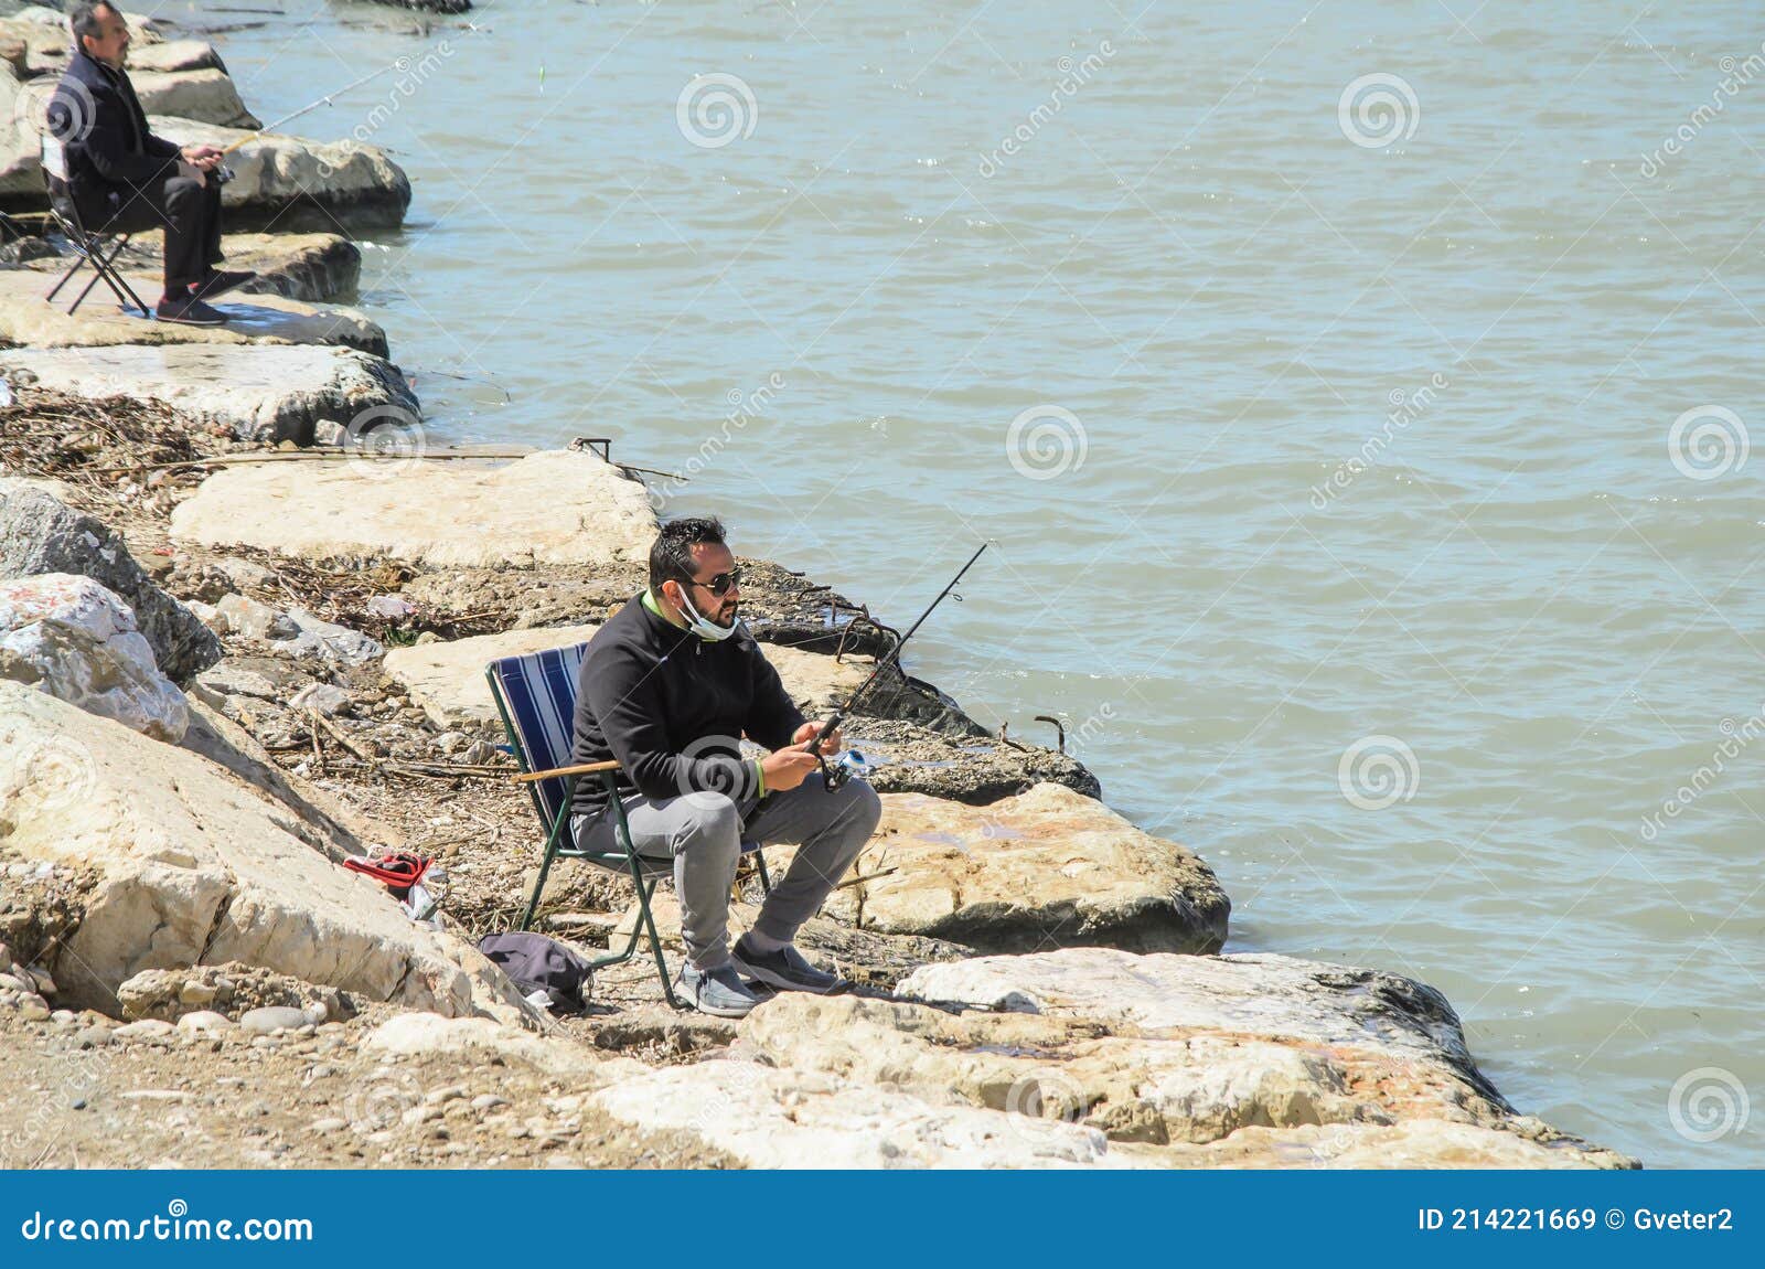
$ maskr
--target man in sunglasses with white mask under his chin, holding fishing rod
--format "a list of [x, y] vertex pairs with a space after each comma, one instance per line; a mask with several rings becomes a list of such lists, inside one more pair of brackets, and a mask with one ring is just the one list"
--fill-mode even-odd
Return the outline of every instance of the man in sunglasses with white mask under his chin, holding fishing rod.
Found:
[[[757, 1004], [741, 981], [831, 992], [844, 983], [792, 946], [833, 893], [882, 814], [863, 780], [830, 792], [807, 722], [754, 637], [724, 526], [680, 519], [650, 549], [650, 589], [588, 644], [577, 690], [574, 762], [620, 761], [620, 796], [639, 854], [674, 860], [687, 964], [681, 985], [702, 1013], [740, 1018]], [[741, 759], [747, 734], [771, 752]], [[828, 738], [826, 752], [840, 748]], [[579, 780], [575, 840], [614, 851], [607, 791]], [[741, 842], [791, 842], [796, 858], [754, 928], [727, 946], [729, 888]]]

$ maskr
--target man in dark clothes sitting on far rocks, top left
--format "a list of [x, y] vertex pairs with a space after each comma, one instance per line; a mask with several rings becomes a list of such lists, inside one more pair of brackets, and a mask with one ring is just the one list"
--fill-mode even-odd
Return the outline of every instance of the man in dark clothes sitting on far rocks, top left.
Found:
[[[122, 69], [129, 23], [108, 4], [81, 4], [69, 14], [74, 35], [67, 74], [49, 101], [49, 132], [67, 159], [67, 196], [94, 233], [166, 229], [166, 293], [161, 321], [219, 327], [226, 318], [207, 300], [256, 274], [217, 272], [221, 263], [221, 184], [212, 178], [221, 150], [182, 150], [146, 129], [146, 113]], [[53, 191], [51, 191], [53, 192]]]

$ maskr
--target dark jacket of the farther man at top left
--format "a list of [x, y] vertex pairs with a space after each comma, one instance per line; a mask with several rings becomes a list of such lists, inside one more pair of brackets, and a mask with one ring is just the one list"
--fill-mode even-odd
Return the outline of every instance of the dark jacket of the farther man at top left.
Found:
[[85, 49], [49, 99], [49, 131], [62, 138], [67, 178], [83, 206], [176, 175], [178, 146], [146, 127], [134, 85]]

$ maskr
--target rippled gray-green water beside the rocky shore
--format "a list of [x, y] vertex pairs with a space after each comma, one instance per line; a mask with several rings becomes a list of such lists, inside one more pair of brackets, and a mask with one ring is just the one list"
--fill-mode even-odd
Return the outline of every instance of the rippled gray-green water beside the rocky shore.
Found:
[[690, 464], [897, 619], [997, 540], [914, 669], [1064, 715], [1234, 948], [1435, 983], [1650, 1163], [1765, 1158], [1756, 7], [279, 7], [217, 37], [267, 118], [448, 41], [297, 129], [413, 176], [362, 304], [434, 432]]

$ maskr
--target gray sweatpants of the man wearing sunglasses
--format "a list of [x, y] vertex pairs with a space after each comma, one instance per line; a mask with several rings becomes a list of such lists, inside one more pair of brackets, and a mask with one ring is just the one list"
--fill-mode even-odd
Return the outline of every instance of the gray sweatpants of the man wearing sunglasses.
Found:
[[[847, 780], [828, 792], [819, 771], [796, 789], [766, 794], [757, 803], [748, 798], [738, 805], [720, 792], [625, 800], [637, 852], [674, 860], [681, 941], [697, 969], [729, 960], [729, 886], [743, 840], [798, 847], [754, 921], [761, 934], [789, 942], [858, 860], [881, 817], [882, 803], [868, 784]], [[621, 849], [611, 812], [579, 815], [570, 828], [584, 851]]]

